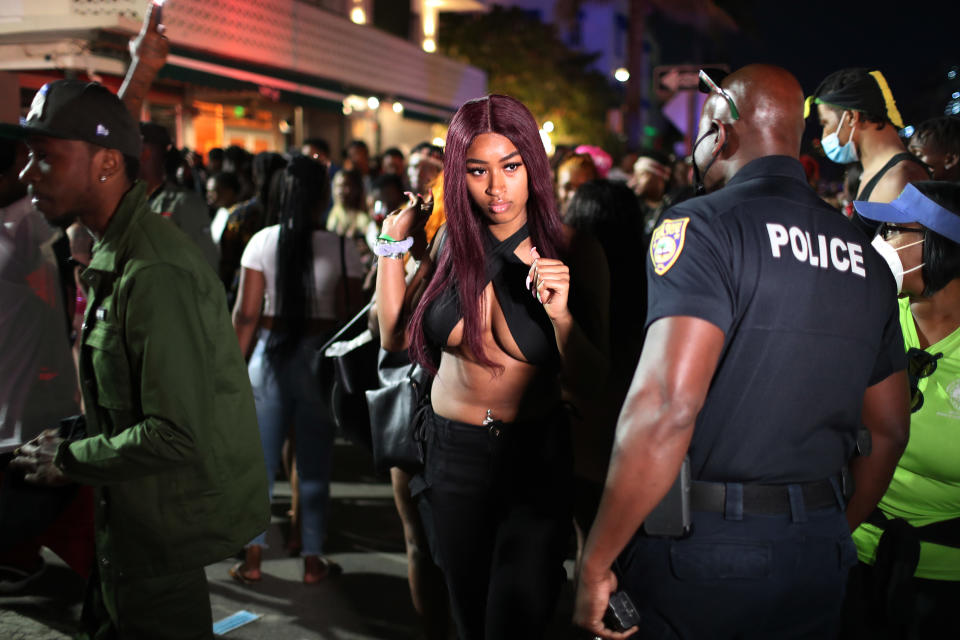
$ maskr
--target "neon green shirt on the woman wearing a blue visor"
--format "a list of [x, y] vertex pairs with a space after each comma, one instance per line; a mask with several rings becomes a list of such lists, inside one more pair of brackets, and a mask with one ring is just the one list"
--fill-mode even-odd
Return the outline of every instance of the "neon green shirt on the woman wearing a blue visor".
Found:
[[[900, 326], [906, 348], [920, 348], [907, 298], [900, 300]], [[910, 441], [879, 505], [887, 517], [916, 527], [960, 517], [960, 329], [926, 351], [943, 358], [920, 380], [923, 406], [910, 418]], [[861, 561], [874, 563], [881, 533], [870, 524], [853, 532]], [[922, 542], [914, 575], [960, 580], [960, 549]]]

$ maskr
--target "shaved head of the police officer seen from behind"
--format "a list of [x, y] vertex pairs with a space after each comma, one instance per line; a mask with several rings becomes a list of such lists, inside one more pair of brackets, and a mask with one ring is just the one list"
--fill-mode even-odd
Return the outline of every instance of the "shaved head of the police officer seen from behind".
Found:
[[[710, 156], [717, 156], [708, 172], [711, 175], [704, 178], [708, 190], [722, 186], [756, 158], [800, 155], [803, 89], [793, 74], [772, 65], [752, 64], [728, 75], [721, 86], [740, 118], [733, 118], [726, 99], [716, 93], [703, 105], [699, 136], [704, 138], [704, 149], [694, 155], [701, 167]], [[712, 139], [711, 131], [717, 134]]]

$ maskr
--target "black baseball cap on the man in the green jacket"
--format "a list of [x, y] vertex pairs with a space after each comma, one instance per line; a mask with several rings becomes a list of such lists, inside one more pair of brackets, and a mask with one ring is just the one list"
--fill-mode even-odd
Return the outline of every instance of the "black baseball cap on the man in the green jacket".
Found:
[[[14, 127], [7, 125], [10, 135]], [[40, 87], [30, 113], [20, 121], [20, 137], [50, 136], [83, 140], [125, 156], [140, 157], [140, 128], [123, 102], [98, 82], [56, 80]]]

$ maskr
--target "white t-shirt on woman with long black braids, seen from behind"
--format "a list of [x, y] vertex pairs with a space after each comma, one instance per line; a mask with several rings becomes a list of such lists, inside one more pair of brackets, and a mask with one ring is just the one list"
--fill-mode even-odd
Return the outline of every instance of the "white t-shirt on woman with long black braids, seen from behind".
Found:
[[[240, 258], [240, 266], [259, 271], [266, 280], [263, 291], [263, 315], [274, 316], [277, 300], [277, 244], [280, 225], [265, 227], [255, 233]], [[348, 278], [362, 278], [363, 265], [354, 243], [343, 243], [343, 257]], [[340, 273], [340, 236], [329, 231], [313, 232], [313, 318], [336, 319], [336, 292]]]

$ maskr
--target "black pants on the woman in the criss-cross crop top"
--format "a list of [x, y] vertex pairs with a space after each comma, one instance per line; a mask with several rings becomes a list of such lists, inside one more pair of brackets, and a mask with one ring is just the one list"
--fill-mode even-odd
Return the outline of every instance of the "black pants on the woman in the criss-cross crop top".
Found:
[[546, 632], [566, 578], [571, 469], [562, 410], [492, 429], [430, 412], [411, 489], [461, 640]]

